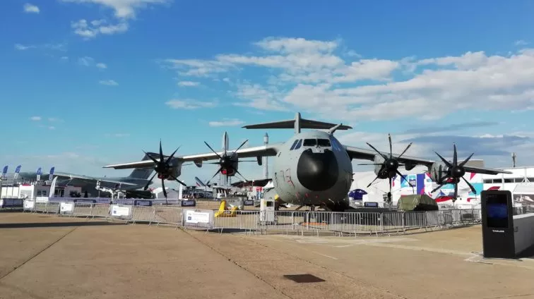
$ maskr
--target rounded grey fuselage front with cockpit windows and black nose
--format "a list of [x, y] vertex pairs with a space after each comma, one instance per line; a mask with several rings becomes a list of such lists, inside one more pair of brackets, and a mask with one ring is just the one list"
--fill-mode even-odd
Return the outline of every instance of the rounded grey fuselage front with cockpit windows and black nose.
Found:
[[273, 185], [293, 205], [348, 206], [352, 163], [345, 147], [319, 130], [295, 134], [274, 157]]

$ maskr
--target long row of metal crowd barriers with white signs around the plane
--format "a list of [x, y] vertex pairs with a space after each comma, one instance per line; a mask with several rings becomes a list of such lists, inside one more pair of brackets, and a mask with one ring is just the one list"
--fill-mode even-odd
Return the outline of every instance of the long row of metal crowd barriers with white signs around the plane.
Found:
[[[24, 212], [42, 212], [85, 218], [120, 219], [126, 222], [168, 224], [206, 231], [249, 233], [329, 233], [391, 235], [414, 229], [437, 230], [480, 223], [480, 209], [429, 212], [301, 212], [227, 211], [169, 206], [109, 205], [87, 202], [34, 202], [25, 200]], [[263, 213], [263, 214], [262, 214]], [[265, 214], [267, 213], [267, 214]]]

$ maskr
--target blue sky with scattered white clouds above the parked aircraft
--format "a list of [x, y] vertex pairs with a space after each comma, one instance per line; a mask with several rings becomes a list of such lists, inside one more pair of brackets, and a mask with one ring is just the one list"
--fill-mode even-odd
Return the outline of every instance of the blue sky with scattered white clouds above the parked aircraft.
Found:
[[532, 16], [532, 1], [1, 1], [0, 164], [123, 176], [102, 166], [160, 140], [219, 150], [225, 131], [232, 148], [262, 145], [265, 130], [241, 127], [299, 111], [352, 126], [336, 132], [345, 145], [386, 151], [391, 133], [410, 156], [456, 142], [486, 166], [511, 152], [534, 166]]

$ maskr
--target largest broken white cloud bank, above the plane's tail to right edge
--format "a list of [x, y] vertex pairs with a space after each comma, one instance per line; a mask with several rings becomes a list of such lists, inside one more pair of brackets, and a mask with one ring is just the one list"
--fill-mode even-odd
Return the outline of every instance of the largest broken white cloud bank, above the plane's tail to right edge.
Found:
[[[216, 78], [244, 67], [263, 69], [268, 80], [235, 85], [234, 95], [241, 99], [236, 105], [335, 114], [341, 121], [437, 120], [466, 109], [534, 109], [534, 49], [506, 56], [467, 51], [420, 60], [351, 56], [345, 61], [336, 54], [339, 44], [267, 38], [254, 43], [259, 51], [253, 55], [165, 59], [162, 64], [184, 77]], [[403, 79], [395, 80], [396, 74]]]

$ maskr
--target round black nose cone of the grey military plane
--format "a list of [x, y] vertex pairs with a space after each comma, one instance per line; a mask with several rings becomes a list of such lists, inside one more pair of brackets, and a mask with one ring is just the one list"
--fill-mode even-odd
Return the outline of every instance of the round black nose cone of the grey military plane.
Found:
[[328, 190], [336, 185], [339, 166], [331, 150], [314, 153], [312, 150], [302, 152], [297, 164], [297, 178], [307, 189], [312, 191]]

